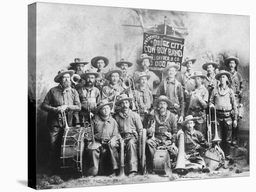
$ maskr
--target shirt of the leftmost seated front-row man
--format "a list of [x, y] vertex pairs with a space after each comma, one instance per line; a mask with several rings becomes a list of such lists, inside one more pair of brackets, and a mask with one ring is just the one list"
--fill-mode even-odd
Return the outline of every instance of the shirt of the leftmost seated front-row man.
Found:
[[95, 141], [109, 141], [112, 138], [117, 141], [119, 137], [118, 124], [112, 116], [108, 119], [101, 116], [97, 121], [94, 120]]

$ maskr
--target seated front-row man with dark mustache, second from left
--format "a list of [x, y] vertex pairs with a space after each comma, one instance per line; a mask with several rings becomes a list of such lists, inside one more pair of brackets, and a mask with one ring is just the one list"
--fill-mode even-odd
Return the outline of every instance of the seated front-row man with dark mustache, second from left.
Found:
[[130, 102], [134, 98], [126, 94], [120, 95], [120, 99], [115, 103], [121, 106], [121, 110], [114, 118], [119, 125], [119, 132], [126, 145], [126, 167], [125, 172], [128, 177], [134, 177], [138, 169], [138, 147], [142, 134], [142, 123], [140, 115], [129, 109]]

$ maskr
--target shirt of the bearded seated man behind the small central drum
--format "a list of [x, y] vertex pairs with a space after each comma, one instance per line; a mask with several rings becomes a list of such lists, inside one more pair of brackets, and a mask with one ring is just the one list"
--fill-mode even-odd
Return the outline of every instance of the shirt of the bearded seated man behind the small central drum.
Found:
[[159, 127], [167, 127], [167, 131], [172, 134], [171, 141], [175, 141], [176, 134], [178, 132], [176, 116], [170, 111], [166, 111], [166, 114], [160, 115], [159, 110], [155, 110], [155, 115], [148, 117], [147, 132], [151, 127], [151, 122], [155, 121], [155, 133], [159, 132]]

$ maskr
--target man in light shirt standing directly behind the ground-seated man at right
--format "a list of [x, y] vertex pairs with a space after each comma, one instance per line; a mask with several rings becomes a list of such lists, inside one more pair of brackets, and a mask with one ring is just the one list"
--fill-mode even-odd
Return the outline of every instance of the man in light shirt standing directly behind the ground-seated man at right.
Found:
[[206, 134], [206, 113], [205, 109], [208, 106], [209, 93], [208, 90], [202, 85], [202, 81], [206, 76], [202, 74], [202, 71], [195, 71], [194, 76], [191, 79], [195, 80], [195, 90], [190, 91], [190, 102], [187, 114], [193, 115], [198, 118], [195, 121], [195, 130], [200, 131], [203, 136]]

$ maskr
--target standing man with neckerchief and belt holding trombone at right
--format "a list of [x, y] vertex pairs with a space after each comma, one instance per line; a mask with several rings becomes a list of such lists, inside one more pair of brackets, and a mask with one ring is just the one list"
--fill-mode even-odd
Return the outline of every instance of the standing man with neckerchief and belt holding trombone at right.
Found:
[[[237, 125], [236, 98], [234, 91], [227, 85], [230, 77], [231, 74], [225, 70], [220, 70], [216, 74], [215, 78], [220, 81], [220, 84], [212, 91], [209, 100], [209, 107], [216, 108], [218, 135], [222, 139], [220, 146], [227, 160], [229, 160], [230, 144], [232, 142], [232, 127], [236, 128]], [[224, 165], [224, 168], [227, 168], [227, 164]]]

